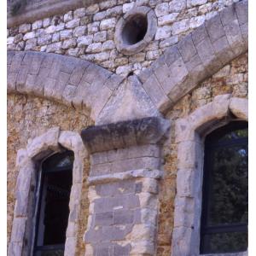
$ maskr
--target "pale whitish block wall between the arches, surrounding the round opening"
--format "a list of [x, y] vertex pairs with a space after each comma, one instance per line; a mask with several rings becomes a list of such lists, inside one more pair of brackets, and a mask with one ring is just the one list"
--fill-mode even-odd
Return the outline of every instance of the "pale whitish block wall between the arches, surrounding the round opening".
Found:
[[[139, 73], [184, 35], [238, 0], [108, 0], [8, 29], [9, 50], [73, 55], [127, 76]], [[134, 6], [148, 6], [157, 17], [154, 40], [136, 55], [116, 49], [115, 26]]]

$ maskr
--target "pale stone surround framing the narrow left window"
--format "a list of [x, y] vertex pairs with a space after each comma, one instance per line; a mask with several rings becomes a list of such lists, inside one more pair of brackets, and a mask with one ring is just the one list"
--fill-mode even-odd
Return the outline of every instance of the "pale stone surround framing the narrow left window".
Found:
[[32, 183], [32, 174], [36, 172], [35, 161], [43, 160], [48, 152], [58, 152], [61, 147], [72, 150], [73, 161], [73, 185], [69, 201], [69, 217], [66, 232], [65, 256], [74, 256], [77, 244], [78, 222], [80, 212], [80, 198], [82, 194], [84, 158], [87, 151], [84, 148], [79, 133], [74, 131], [61, 131], [54, 127], [43, 135], [30, 139], [26, 148], [20, 148], [16, 157], [16, 168], [19, 174], [16, 181], [16, 201], [11, 238], [8, 255], [19, 256], [22, 254], [24, 238], [26, 236], [26, 224], [28, 220], [28, 201]]

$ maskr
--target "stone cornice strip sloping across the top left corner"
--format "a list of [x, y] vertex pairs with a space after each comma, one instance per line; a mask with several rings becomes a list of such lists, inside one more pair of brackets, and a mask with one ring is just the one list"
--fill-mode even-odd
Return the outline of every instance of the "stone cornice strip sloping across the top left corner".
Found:
[[87, 7], [103, 0], [44, 0], [38, 3], [30, 3], [20, 14], [7, 15], [7, 27], [18, 26], [35, 20], [44, 19], [52, 15], [61, 15], [71, 9]]

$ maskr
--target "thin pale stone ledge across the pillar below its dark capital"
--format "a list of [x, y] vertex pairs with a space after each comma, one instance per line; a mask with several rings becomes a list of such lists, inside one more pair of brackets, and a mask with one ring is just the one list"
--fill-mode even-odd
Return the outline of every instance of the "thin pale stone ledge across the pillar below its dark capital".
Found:
[[164, 172], [160, 170], [148, 170], [148, 169], [140, 169], [140, 170], [132, 170], [127, 172], [119, 172], [113, 174], [107, 174], [97, 177], [88, 177], [87, 183], [90, 185], [96, 185], [99, 183], [113, 183], [123, 181], [125, 179], [133, 179], [133, 178], [155, 178], [160, 179], [164, 177]]

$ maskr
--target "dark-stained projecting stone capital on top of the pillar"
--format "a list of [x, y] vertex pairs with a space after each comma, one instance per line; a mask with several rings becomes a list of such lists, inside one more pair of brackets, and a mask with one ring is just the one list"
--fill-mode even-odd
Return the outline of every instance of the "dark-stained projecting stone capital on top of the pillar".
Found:
[[134, 145], [161, 143], [170, 120], [158, 117], [133, 119], [108, 125], [90, 126], [81, 132], [90, 154]]

